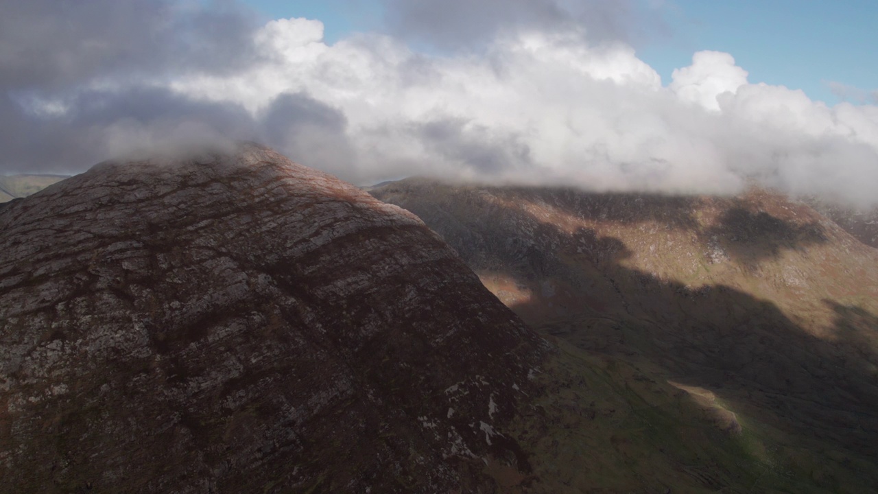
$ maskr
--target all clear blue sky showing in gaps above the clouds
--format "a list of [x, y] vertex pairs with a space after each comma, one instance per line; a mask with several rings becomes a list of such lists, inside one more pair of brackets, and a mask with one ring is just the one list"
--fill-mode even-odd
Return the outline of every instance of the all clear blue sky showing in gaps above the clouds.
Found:
[[[869, 101], [878, 89], [878, 4], [872, 0], [657, 0], [633, 45], [665, 82], [702, 50], [730, 53], [752, 79], [801, 89], [834, 105]], [[378, 0], [248, 0], [263, 18], [315, 18], [332, 44], [386, 25]], [[645, 8], [644, 8], [645, 7]], [[834, 83], [834, 84], [833, 84]], [[842, 91], [847, 88], [847, 92]], [[872, 97], [874, 98], [874, 97]], [[874, 103], [874, 99], [872, 101]]]

